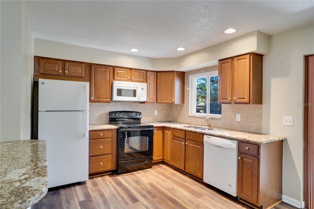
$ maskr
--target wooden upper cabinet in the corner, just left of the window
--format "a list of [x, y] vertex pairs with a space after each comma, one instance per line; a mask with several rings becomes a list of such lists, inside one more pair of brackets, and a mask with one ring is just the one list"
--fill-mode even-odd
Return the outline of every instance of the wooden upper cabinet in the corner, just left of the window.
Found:
[[157, 103], [184, 104], [184, 72], [157, 72]]

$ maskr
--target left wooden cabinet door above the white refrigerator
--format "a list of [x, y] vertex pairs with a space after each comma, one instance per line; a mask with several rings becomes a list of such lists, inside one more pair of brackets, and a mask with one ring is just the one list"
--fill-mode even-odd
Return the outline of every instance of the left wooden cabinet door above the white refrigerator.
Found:
[[59, 76], [62, 75], [62, 61], [39, 58], [39, 73]]

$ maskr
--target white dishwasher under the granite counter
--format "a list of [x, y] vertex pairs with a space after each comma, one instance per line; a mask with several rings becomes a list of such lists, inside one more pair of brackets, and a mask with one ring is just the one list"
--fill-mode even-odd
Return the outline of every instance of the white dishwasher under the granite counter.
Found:
[[236, 197], [237, 141], [204, 135], [204, 182]]

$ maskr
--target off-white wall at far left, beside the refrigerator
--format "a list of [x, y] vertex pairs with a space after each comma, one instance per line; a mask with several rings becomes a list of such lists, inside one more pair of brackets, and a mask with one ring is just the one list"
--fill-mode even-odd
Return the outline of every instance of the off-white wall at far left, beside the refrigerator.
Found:
[[1, 1], [1, 141], [30, 138], [31, 34], [26, 2]]

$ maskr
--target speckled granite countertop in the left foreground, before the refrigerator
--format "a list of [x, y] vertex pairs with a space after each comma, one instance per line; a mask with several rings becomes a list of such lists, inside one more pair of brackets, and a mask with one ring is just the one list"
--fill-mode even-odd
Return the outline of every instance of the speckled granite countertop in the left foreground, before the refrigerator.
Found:
[[0, 142], [0, 207], [26, 209], [48, 191], [44, 140]]

